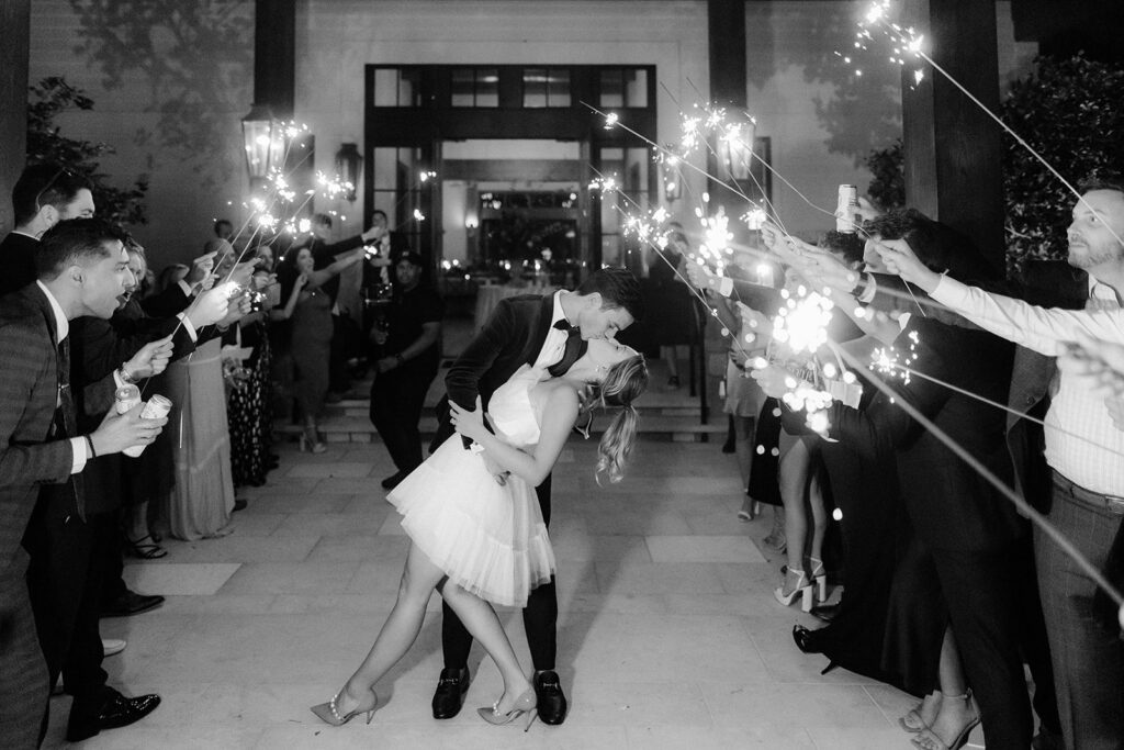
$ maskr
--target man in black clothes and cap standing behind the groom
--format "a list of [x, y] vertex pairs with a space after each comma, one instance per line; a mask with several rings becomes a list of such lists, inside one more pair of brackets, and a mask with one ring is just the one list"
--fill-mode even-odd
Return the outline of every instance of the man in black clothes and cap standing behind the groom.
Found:
[[418, 421], [429, 383], [441, 364], [441, 322], [445, 305], [437, 291], [423, 282], [422, 256], [399, 254], [395, 264], [393, 296], [384, 322], [372, 327], [379, 347], [371, 383], [371, 423], [387, 445], [397, 471], [382, 480], [393, 489], [422, 463]]

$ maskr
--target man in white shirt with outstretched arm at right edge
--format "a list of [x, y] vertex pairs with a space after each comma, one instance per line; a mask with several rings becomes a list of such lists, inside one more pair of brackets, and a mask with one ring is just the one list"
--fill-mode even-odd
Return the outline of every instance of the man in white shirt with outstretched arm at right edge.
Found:
[[[1034, 307], [967, 287], [925, 268], [908, 246], [879, 250], [890, 272], [972, 323], [1042, 354], [1087, 333], [1124, 343], [1124, 181], [1081, 186], [1070, 224], [1069, 263], [1089, 274], [1085, 310]], [[1013, 383], [1014, 388], [1014, 383]], [[1053, 471], [1049, 518], [1104, 570], [1124, 519], [1124, 432], [1103, 394], [1063, 370], [1045, 416]], [[1062, 733], [1069, 748], [1118, 749], [1124, 738], [1124, 644], [1094, 616], [1097, 586], [1052, 540], [1035, 532], [1039, 587], [1050, 636]]]

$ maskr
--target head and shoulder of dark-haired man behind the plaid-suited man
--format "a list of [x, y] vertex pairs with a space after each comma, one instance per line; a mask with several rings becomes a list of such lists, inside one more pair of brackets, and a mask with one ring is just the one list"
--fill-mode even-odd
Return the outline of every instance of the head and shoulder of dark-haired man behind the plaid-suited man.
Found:
[[60, 164], [25, 169], [11, 202], [16, 228], [0, 242], [0, 295], [35, 281], [35, 249], [44, 232], [66, 219], [93, 216], [90, 183]]

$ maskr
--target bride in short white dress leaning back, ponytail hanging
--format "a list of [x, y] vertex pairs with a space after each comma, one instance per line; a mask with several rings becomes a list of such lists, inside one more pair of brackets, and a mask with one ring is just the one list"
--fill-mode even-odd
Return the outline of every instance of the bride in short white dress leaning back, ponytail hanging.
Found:
[[[491, 724], [527, 714], [535, 690], [489, 602], [523, 606], [527, 593], [551, 579], [554, 552], [534, 488], [558, 461], [579, 414], [619, 407], [598, 446], [597, 475], [619, 481], [636, 437], [633, 401], [647, 386], [644, 358], [611, 338], [589, 341], [587, 353], [562, 377], [524, 365], [489, 401], [490, 424], [477, 399], [474, 412], [451, 403], [456, 432], [474, 441], [447, 440], [388, 496], [410, 537], [398, 599], [366, 658], [332, 701], [312, 712], [333, 725], [365, 713], [379, 698], [374, 684], [413, 645], [434, 589], [487, 649], [504, 678], [504, 694], [479, 713]], [[511, 472], [498, 485], [480, 452]]]

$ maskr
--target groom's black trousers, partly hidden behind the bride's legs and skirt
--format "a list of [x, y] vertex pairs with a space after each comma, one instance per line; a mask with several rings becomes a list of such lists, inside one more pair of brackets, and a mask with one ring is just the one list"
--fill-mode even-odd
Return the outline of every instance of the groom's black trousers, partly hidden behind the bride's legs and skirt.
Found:
[[[543, 523], [550, 528], [551, 478], [549, 476], [535, 488], [535, 494], [538, 496], [538, 507], [543, 512]], [[442, 614], [441, 645], [445, 654], [445, 668], [463, 669], [469, 663], [472, 635], [447, 604], [442, 604]], [[543, 584], [531, 590], [527, 606], [523, 609], [523, 627], [527, 631], [531, 661], [536, 671], [554, 669], [554, 657], [558, 653], [558, 620], [559, 597], [552, 578], [550, 584]]]

